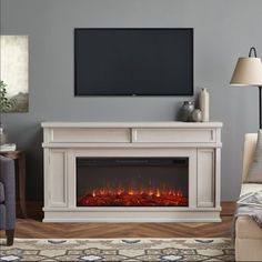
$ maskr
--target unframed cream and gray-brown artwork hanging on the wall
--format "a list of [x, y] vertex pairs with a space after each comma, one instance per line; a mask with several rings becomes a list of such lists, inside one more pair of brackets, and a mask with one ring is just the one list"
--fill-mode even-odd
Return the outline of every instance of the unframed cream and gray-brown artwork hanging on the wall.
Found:
[[28, 112], [28, 36], [0, 36], [0, 112]]

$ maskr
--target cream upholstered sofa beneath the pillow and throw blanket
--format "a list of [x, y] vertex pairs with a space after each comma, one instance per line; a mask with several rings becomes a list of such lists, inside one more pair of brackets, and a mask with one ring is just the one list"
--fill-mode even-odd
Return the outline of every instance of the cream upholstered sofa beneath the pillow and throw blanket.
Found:
[[[241, 193], [262, 190], [261, 183], [245, 183], [253, 160], [258, 134], [244, 137], [243, 170]], [[262, 261], [262, 229], [250, 216], [238, 216], [235, 221], [235, 259], [236, 261]]]

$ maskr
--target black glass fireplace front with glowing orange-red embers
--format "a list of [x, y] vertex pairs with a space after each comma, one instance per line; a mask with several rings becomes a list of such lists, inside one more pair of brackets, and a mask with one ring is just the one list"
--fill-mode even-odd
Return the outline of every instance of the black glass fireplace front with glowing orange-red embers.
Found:
[[188, 206], [189, 158], [77, 158], [77, 206]]

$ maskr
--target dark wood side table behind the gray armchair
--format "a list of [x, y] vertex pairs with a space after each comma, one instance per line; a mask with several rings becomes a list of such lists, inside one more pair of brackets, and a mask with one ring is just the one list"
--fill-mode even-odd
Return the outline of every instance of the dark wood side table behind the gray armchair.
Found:
[[1, 155], [18, 161], [18, 187], [19, 187], [19, 202], [22, 216], [27, 218], [26, 208], [26, 154], [23, 151], [3, 151]]

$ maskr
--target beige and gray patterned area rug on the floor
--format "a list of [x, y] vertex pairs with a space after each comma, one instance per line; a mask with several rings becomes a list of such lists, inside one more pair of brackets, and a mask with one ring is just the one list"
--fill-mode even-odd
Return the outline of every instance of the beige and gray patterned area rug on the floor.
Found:
[[231, 239], [16, 239], [0, 261], [234, 261]]

